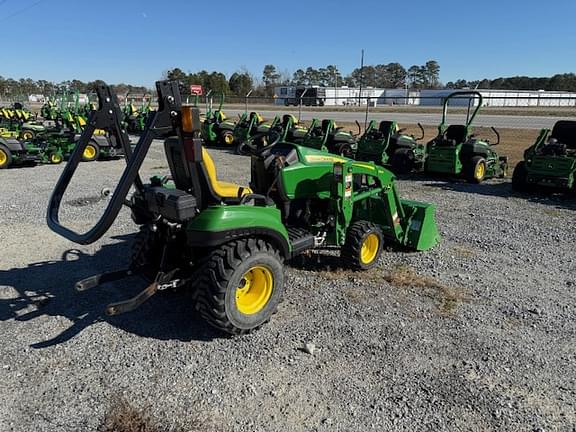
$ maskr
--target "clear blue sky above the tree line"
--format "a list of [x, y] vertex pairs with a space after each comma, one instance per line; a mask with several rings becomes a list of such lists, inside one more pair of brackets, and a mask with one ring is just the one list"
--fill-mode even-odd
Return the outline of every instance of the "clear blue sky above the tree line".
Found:
[[[574, 0], [0, 0], [4, 77], [152, 86], [162, 72], [440, 63], [443, 82], [576, 72]], [[11, 41], [6, 43], [6, 41]]]

